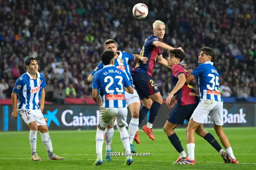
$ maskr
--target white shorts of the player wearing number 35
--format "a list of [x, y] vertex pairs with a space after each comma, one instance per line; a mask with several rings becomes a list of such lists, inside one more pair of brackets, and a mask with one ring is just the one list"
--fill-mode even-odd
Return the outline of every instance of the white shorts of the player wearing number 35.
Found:
[[200, 100], [190, 119], [193, 118], [195, 122], [203, 123], [208, 115], [210, 116], [211, 122], [215, 125], [222, 126], [223, 102], [208, 99]]

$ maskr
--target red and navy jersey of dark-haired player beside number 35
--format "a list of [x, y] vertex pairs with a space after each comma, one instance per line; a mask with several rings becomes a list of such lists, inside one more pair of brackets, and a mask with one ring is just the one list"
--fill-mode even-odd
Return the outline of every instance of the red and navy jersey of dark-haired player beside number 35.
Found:
[[[179, 81], [178, 75], [184, 74], [187, 77], [187, 72], [184, 66], [177, 64], [172, 66], [172, 84], [174, 87]], [[195, 90], [189, 83], [184, 84], [184, 86], [177, 92], [177, 105], [190, 105], [197, 104], [199, 102], [199, 97], [196, 96]]]

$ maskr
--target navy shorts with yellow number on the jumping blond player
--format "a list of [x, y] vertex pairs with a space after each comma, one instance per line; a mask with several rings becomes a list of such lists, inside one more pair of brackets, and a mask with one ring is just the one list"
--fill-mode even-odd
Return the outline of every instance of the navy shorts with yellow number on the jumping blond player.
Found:
[[135, 85], [135, 89], [137, 90], [141, 100], [149, 95], [154, 95], [159, 92], [156, 83], [147, 73], [133, 72], [133, 85]]

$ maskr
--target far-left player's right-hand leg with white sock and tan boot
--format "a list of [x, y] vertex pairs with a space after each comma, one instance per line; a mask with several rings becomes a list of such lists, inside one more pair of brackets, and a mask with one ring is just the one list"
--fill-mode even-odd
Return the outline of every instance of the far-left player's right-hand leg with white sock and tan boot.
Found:
[[46, 150], [48, 152], [48, 160], [64, 160], [65, 158], [59, 157], [54, 154], [52, 144], [51, 144], [51, 138], [49, 135], [49, 130], [46, 125], [39, 125], [38, 130], [41, 132], [42, 141], [46, 147]]

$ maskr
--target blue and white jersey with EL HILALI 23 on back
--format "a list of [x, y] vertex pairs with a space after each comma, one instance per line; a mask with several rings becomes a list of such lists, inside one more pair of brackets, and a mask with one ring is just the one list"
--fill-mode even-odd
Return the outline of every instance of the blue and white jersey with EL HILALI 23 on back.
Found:
[[100, 91], [101, 107], [126, 107], [124, 87], [130, 85], [125, 72], [113, 65], [105, 65], [92, 79], [92, 88]]

